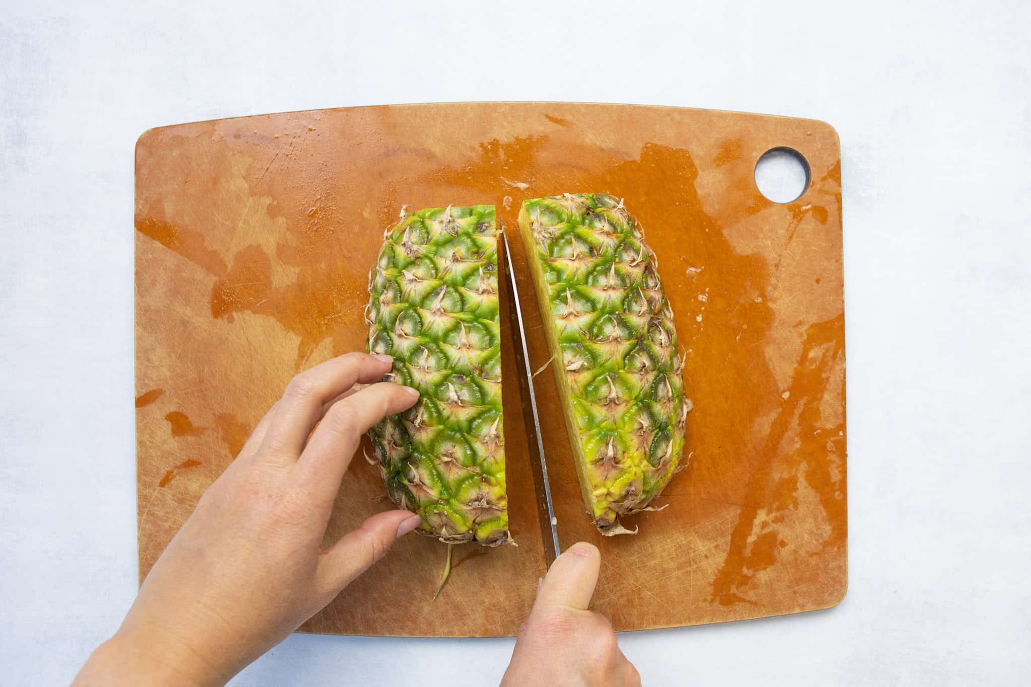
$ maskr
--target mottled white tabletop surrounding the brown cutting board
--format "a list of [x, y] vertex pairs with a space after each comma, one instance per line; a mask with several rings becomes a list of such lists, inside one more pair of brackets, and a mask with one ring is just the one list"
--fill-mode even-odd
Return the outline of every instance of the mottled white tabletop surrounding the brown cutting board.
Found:
[[[841, 137], [849, 594], [623, 634], [644, 683], [1031, 671], [1028, 3], [0, 4], [4, 684], [69, 681], [136, 589], [136, 137], [462, 100], [759, 111]], [[496, 684], [510, 650], [294, 636], [235, 684]]]

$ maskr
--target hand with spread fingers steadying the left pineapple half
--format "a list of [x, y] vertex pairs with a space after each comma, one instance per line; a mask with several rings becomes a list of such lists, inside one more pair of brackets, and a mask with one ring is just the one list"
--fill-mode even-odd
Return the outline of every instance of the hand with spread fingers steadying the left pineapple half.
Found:
[[373, 383], [390, 369], [347, 353], [295, 377], [74, 684], [224, 684], [417, 527], [408, 511], [378, 513], [322, 550], [361, 434], [419, 397]]

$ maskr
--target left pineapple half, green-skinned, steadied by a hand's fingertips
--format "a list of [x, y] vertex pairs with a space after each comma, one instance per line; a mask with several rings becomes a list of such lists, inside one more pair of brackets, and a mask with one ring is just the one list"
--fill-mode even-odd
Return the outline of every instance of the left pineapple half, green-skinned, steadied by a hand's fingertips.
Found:
[[493, 205], [403, 214], [369, 274], [368, 350], [420, 400], [369, 431], [384, 485], [420, 534], [510, 540]]

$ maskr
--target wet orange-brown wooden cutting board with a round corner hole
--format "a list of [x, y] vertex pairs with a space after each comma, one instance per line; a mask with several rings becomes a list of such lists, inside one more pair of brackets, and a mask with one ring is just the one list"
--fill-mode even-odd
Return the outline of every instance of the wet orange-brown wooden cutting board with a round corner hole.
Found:
[[[766, 200], [754, 168], [788, 146], [804, 195]], [[526, 198], [626, 199], [659, 259], [687, 351], [687, 470], [635, 537], [584, 513], [551, 373], [536, 378], [563, 548], [602, 551], [593, 608], [617, 629], [823, 609], [846, 586], [844, 309], [839, 145], [823, 123], [627, 105], [401, 105], [155, 129], [136, 147], [137, 509], [140, 578], [290, 378], [364, 349], [366, 280], [409, 209]], [[509, 241], [531, 364], [546, 345]], [[503, 296], [503, 295], [502, 295]], [[519, 547], [407, 537], [303, 629], [513, 634], [545, 563], [501, 299], [511, 531]], [[355, 460], [328, 533], [389, 508]]]

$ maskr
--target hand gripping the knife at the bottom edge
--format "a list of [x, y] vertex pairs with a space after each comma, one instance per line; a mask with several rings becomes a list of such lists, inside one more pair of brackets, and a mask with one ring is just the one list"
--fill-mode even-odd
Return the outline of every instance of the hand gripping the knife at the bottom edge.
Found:
[[587, 610], [598, 582], [598, 549], [580, 542], [555, 559], [519, 629], [502, 687], [640, 685], [605, 616]]

